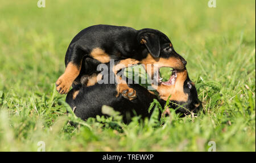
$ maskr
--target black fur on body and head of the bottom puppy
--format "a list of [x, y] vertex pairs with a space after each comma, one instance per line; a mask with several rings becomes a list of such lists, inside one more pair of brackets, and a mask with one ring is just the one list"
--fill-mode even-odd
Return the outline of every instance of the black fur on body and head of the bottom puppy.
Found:
[[[187, 72], [187, 71], [186, 71]], [[179, 82], [179, 81], [176, 81]], [[187, 75], [183, 84], [184, 93], [188, 95], [187, 101], [171, 101], [170, 107], [177, 108], [177, 113], [189, 114], [189, 111], [197, 113], [201, 106], [201, 102], [198, 99], [196, 87], [191, 84], [192, 81]], [[95, 84], [90, 87], [82, 87], [76, 85], [75, 88], [69, 91], [66, 102], [74, 110], [77, 117], [81, 119], [88, 119], [89, 117], [96, 117], [96, 115], [104, 115], [101, 112], [103, 105], [108, 105], [119, 111], [123, 115], [123, 121], [129, 122], [130, 117], [134, 115], [141, 115], [142, 118], [150, 117], [151, 113], [148, 113], [148, 107], [154, 99], [157, 99], [162, 105], [162, 108], [166, 104], [166, 101], [159, 99], [156, 95], [148, 92], [148, 90], [139, 84], [128, 84], [130, 88], [137, 91], [137, 99], [127, 100], [122, 96], [117, 95], [115, 84]], [[74, 98], [73, 95], [76, 91], [79, 93]], [[179, 104], [187, 109], [180, 108]], [[198, 105], [197, 105], [198, 104]]]

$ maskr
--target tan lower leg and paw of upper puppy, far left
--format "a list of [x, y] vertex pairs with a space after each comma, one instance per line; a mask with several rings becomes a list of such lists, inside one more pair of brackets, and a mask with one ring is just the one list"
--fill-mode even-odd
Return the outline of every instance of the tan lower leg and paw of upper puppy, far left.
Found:
[[[80, 64], [81, 65], [81, 64]], [[73, 81], [77, 78], [81, 70], [81, 66], [77, 67], [76, 64], [69, 62], [65, 72], [56, 81], [56, 90], [60, 93], [68, 93]]]

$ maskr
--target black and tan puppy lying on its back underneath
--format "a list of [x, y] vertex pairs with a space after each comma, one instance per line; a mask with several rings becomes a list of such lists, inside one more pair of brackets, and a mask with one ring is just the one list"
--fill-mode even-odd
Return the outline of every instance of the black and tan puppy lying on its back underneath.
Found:
[[118, 92], [115, 84], [95, 84], [90, 87], [73, 88], [69, 91], [66, 102], [81, 119], [104, 115], [101, 112], [102, 105], [108, 105], [123, 115], [124, 122], [129, 122], [129, 117], [135, 114], [141, 115], [142, 118], [150, 117], [148, 107], [151, 102], [158, 99], [164, 106], [170, 95], [170, 107], [178, 108], [177, 112], [189, 114], [189, 111], [194, 111], [195, 113], [201, 104], [195, 84], [189, 79], [187, 70], [174, 70], [168, 81], [159, 83], [156, 90], [160, 99], [139, 84], [129, 84], [129, 87], [137, 92], [137, 99], [130, 101], [122, 96], [116, 97]]

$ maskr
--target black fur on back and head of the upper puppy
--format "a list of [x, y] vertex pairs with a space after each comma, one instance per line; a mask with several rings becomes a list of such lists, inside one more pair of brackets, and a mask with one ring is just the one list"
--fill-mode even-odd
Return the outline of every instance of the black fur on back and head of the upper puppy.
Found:
[[[142, 39], [145, 40], [143, 44]], [[156, 29], [144, 28], [137, 31], [130, 27], [93, 25], [83, 29], [73, 38], [65, 55], [65, 65], [69, 62], [80, 65], [82, 58], [92, 58], [89, 54], [95, 48], [104, 50], [110, 58], [117, 61], [126, 58], [141, 61], [147, 57], [149, 51], [155, 58], [175, 57], [185, 65], [187, 62], [173, 47], [170, 53], [160, 53], [164, 48], [170, 47], [170, 43], [169, 38]], [[84, 67], [84, 73], [90, 74], [90, 69]]]

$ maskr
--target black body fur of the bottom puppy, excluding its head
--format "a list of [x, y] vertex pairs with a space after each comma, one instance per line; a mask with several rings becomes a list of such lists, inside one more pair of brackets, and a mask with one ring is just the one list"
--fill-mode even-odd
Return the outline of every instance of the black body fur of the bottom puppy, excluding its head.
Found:
[[[128, 85], [137, 91], [135, 100], [130, 101], [122, 96], [116, 97], [115, 84], [95, 84], [90, 87], [76, 85], [68, 92], [66, 102], [74, 110], [76, 116], [84, 120], [89, 117], [96, 117], [96, 115], [104, 115], [101, 112], [103, 105], [111, 106], [114, 110], [119, 111], [123, 115], [124, 122], [129, 122], [129, 118], [134, 115], [141, 115], [142, 118], [150, 117], [151, 113], [148, 113], [148, 107], [158, 97], [139, 84]], [[79, 94], [73, 99], [73, 92], [77, 90], [79, 90]], [[166, 101], [159, 100], [159, 102], [164, 106]]]

